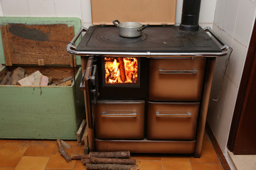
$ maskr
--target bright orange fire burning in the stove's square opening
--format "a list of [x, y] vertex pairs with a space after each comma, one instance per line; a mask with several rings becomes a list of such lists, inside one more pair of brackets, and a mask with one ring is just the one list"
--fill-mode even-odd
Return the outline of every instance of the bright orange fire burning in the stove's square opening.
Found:
[[107, 84], [137, 83], [138, 61], [134, 57], [105, 57]]

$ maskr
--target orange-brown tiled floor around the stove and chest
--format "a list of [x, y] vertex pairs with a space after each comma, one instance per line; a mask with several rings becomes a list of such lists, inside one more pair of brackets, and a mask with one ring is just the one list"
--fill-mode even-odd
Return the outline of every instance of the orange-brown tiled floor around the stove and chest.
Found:
[[[66, 141], [68, 154], [82, 154], [75, 141]], [[132, 154], [140, 170], [222, 170], [208, 136], [203, 139], [201, 158], [171, 154]], [[80, 161], [65, 162], [56, 141], [0, 140], [0, 170], [82, 170]]]

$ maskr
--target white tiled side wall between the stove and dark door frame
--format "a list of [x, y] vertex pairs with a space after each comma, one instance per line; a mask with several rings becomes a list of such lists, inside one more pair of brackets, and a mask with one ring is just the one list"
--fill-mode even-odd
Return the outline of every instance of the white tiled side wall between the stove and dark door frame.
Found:
[[[213, 30], [230, 47], [233, 47], [226, 72], [225, 60], [227, 57], [219, 57], [216, 61], [208, 113], [210, 128], [225, 154], [227, 154], [228, 135], [252, 27], [255, 22], [255, 13], [255, 0], [218, 0], [215, 8]], [[219, 100], [213, 101], [212, 99], [218, 98], [221, 86]]]

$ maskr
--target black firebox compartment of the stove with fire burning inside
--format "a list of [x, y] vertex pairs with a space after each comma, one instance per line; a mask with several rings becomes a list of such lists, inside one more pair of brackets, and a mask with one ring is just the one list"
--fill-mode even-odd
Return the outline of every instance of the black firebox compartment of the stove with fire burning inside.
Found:
[[121, 56], [97, 57], [96, 60], [100, 99], [146, 98], [148, 60]]

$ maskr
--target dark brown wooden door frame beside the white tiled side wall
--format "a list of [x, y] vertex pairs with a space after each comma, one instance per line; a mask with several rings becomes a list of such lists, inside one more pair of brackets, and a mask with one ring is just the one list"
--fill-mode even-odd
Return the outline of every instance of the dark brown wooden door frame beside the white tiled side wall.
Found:
[[237, 137], [238, 128], [240, 125], [240, 118], [242, 118], [243, 111], [246, 105], [248, 91], [250, 90], [250, 81], [252, 81], [253, 72], [256, 65], [256, 21], [252, 30], [245, 66], [242, 72], [242, 79], [238, 90], [238, 97], [235, 103], [235, 110], [233, 113], [233, 120], [230, 128], [230, 135], [228, 137], [228, 149], [233, 152], [235, 139]]

